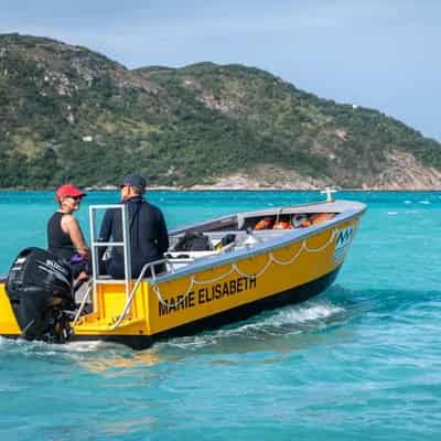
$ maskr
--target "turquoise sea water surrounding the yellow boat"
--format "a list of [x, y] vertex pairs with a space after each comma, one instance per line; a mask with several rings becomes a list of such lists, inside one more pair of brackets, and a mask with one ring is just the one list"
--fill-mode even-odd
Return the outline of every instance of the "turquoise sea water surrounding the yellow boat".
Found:
[[[440, 440], [441, 194], [338, 196], [368, 212], [335, 284], [312, 301], [142, 352], [0, 338], [0, 439]], [[149, 195], [169, 226], [321, 197]], [[0, 193], [0, 208], [6, 273], [21, 248], [44, 246], [54, 204]], [[86, 228], [85, 207], [78, 217]]]

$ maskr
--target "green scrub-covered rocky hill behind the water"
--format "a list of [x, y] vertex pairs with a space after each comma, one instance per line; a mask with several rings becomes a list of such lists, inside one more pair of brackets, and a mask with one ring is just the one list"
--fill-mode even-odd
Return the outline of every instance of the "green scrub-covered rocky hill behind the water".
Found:
[[85, 47], [0, 35], [0, 187], [151, 185], [427, 189], [440, 143], [379, 111], [267, 72], [135, 71]]

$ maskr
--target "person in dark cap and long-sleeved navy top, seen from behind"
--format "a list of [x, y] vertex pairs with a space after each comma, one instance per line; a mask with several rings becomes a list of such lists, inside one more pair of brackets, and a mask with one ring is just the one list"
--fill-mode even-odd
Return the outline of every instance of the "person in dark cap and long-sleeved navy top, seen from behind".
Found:
[[[129, 211], [131, 278], [137, 278], [146, 263], [162, 259], [169, 249], [169, 234], [164, 216], [160, 208], [143, 198], [146, 185], [146, 180], [139, 174], [127, 175], [120, 185], [121, 202], [127, 205]], [[103, 218], [99, 240], [109, 241], [110, 237], [115, 241], [122, 241], [120, 209], [110, 208]], [[99, 260], [105, 251], [105, 247], [99, 248]], [[112, 248], [105, 267], [103, 268], [100, 265], [100, 273], [105, 269], [115, 279], [126, 277], [122, 247]], [[150, 276], [150, 272], [146, 276]]]

